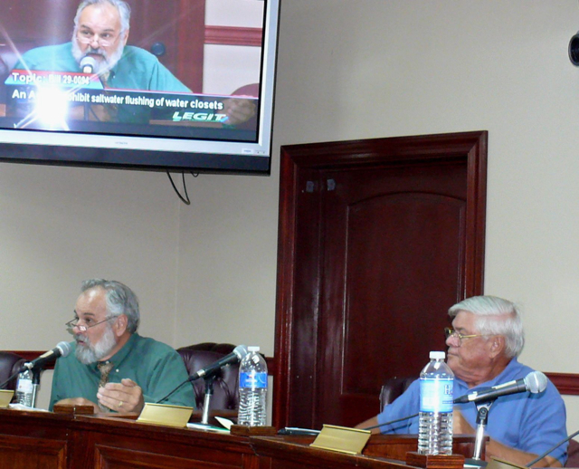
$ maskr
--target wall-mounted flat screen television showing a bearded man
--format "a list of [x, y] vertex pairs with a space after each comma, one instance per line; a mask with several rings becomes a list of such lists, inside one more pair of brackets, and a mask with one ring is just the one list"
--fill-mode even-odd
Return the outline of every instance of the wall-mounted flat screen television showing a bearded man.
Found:
[[3, 0], [0, 160], [269, 174], [279, 0], [118, 2]]

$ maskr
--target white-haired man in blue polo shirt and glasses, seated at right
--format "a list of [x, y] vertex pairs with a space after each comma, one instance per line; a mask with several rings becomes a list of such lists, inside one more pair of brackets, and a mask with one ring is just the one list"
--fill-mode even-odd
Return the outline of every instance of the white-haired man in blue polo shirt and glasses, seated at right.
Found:
[[[493, 296], [475, 296], [449, 310], [452, 329], [446, 331], [448, 364], [454, 373], [454, 397], [525, 378], [533, 369], [517, 357], [525, 344], [517, 306]], [[420, 410], [420, 387], [416, 380], [384, 411], [359, 428], [385, 424]], [[550, 381], [540, 394], [519, 393], [498, 397], [490, 407], [486, 434], [490, 437], [486, 456], [524, 465], [543, 454], [566, 436], [565, 403]], [[474, 435], [475, 404], [454, 407], [453, 433]], [[374, 429], [375, 433], [417, 434], [418, 417]], [[561, 445], [536, 465], [560, 467], [566, 461]]]

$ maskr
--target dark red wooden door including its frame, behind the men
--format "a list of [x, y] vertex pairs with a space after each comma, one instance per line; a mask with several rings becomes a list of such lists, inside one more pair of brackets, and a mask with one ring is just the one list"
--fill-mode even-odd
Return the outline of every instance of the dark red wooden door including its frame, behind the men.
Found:
[[282, 148], [278, 426], [353, 426], [482, 292], [486, 132]]

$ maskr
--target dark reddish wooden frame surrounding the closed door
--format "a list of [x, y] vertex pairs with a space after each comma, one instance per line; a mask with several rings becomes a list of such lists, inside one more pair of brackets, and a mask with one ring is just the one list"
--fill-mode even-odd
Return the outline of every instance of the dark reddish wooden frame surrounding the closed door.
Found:
[[[411, 161], [466, 161], [466, 253], [464, 298], [482, 294], [484, 281], [488, 131], [362, 139], [281, 147], [280, 219], [272, 424], [288, 426], [292, 400], [290, 377], [292, 321], [296, 291], [297, 200], [300, 177], [320, 170], [346, 170]], [[313, 228], [316, 229], [315, 227]]]

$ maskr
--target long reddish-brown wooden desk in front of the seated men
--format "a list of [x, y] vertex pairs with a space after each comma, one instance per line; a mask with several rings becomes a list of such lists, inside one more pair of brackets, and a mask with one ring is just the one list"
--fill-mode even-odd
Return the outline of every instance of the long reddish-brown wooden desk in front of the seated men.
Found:
[[[364, 455], [311, 448], [312, 436], [233, 436], [131, 419], [0, 409], [0, 469], [409, 468], [416, 436], [372, 436]], [[455, 451], [471, 455], [472, 437]]]

